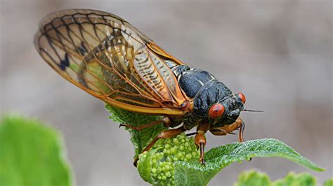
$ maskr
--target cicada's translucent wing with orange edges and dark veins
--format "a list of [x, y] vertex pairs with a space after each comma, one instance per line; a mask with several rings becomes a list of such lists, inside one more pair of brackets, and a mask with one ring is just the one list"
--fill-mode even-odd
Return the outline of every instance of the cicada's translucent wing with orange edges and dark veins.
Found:
[[189, 101], [170, 66], [182, 64], [117, 15], [63, 10], [46, 16], [34, 38], [61, 76], [126, 110], [183, 115]]

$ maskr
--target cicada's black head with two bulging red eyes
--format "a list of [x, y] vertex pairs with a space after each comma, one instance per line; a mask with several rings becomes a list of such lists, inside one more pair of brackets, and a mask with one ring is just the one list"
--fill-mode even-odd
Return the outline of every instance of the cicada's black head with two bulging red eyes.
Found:
[[209, 84], [194, 99], [194, 114], [215, 127], [233, 124], [244, 109], [244, 94], [233, 94], [219, 81]]

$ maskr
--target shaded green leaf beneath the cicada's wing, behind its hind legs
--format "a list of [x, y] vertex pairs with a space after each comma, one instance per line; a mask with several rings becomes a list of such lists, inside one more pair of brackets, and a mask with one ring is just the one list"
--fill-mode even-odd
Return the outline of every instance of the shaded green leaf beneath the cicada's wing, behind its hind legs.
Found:
[[[134, 127], [155, 122], [156, 120], [161, 119], [160, 116], [133, 113], [122, 108], [111, 106], [109, 104], [106, 104], [105, 108], [109, 111], [110, 118], [114, 122], [126, 123]], [[150, 127], [141, 131], [134, 131], [129, 129], [131, 134], [131, 142], [136, 149], [135, 156], [139, 155], [143, 148], [145, 148], [145, 146], [147, 146], [153, 138], [155, 138], [161, 131], [164, 131], [165, 129], [166, 127], [163, 127], [163, 124], [157, 124], [155, 127]]]

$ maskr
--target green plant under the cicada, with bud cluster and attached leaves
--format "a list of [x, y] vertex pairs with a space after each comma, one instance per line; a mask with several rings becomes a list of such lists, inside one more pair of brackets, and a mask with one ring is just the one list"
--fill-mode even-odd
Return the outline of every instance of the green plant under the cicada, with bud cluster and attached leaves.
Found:
[[[136, 127], [158, 119], [155, 116], [131, 113], [110, 105], [106, 108], [112, 120]], [[165, 128], [162, 124], [142, 131], [130, 129], [136, 155], [163, 129]], [[204, 166], [199, 164], [197, 157], [193, 138], [187, 138], [184, 134], [178, 135], [175, 138], [159, 140], [152, 150], [140, 155], [138, 171], [141, 178], [152, 185], [207, 185], [224, 167], [252, 157], [282, 157], [313, 171], [325, 170], [302, 157], [282, 141], [270, 138], [212, 148], [206, 152]]]

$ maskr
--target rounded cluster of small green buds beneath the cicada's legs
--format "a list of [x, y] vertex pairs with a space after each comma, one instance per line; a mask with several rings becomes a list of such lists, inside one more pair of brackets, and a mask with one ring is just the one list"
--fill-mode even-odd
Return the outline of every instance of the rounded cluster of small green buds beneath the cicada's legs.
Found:
[[138, 161], [141, 177], [152, 185], [175, 185], [174, 163], [197, 162], [200, 152], [194, 138], [180, 134], [174, 138], [161, 139]]

